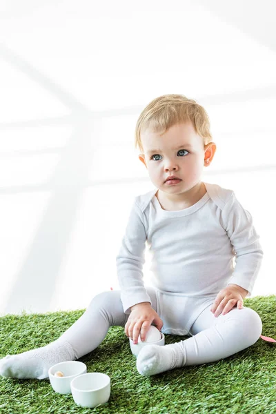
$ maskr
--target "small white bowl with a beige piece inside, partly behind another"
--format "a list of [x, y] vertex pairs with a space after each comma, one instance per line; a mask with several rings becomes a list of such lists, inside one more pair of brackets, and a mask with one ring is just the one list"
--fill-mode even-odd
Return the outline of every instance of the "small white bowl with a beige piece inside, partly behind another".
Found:
[[[55, 377], [55, 373], [61, 371], [64, 377]], [[78, 375], [87, 372], [86, 364], [80, 361], [59, 362], [51, 366], [48, 370], [49, 380], [52, 388], [59, 394], [70, 394], [70, 383]]]

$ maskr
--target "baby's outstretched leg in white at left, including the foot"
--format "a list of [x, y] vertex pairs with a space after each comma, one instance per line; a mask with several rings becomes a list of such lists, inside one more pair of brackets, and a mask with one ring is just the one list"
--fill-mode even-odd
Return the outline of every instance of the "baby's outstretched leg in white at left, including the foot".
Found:
[[[149, 290], [150, 296], [153, 290]], [[0, 359], [0, 374], [14, 378], [48, 377], [48, 368], [63, 361], [73, 361], [97, 348], [110, 326], [124, 326], [120, 291], [103, 292], [95, 296], [85, 313], [59, 339], [42, 348]], [[154, 300], [154, 297], [152, 297]]]

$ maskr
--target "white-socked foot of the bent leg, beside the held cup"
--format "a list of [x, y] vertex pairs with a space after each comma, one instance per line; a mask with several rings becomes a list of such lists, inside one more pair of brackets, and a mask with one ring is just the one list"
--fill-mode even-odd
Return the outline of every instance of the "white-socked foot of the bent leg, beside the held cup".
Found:
[[186, 356], [180, 344], [147, 345], [139, 352], [136, 365], [141, 375], [149, 377], [173, 368], [180, 368], [185, 362]]

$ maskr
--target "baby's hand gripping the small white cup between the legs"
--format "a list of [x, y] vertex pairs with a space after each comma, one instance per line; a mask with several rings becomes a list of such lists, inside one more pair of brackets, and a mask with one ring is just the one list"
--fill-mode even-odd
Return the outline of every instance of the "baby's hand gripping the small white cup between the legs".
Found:
[[150, 306], [150, 302], [142, 302], [131, 306], [131, 312], [126, 322], [125, 333], [130, 337], [133, 344], [137, 344], [139, 334], [141, 335], [141, 341], [146, 339], [146, 333], [148, 332], [150, 325], [154, 322], [159, 331], [163, 326], [163, 321], [154, 309]]

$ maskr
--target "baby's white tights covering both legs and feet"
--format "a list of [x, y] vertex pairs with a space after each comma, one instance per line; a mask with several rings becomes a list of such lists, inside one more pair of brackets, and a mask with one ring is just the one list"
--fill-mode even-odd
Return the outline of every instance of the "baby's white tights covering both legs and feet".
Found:
[[[164, 332], [186, 332], [191, 337], [165, 346], [145, 346], [137, 357], [141, 375], [155, 375], [172, 368], [206, 364], [233, 355], [253, 345], [262, 333], [262, 321], [250, 308], [233, 308], [215, 317], [210, 312], [213, 298], [165, 298], [148, 288], [152, 308], [164, 321]], [[17, 355], [0, 359], [0, 375], [14, 378], [48, 377], [50, 366], [79, 359], [93, 351], [108, 333], [110, 326], [124, 327], [124, 313], [119, 290], [95, 296], [86, 312], [55, 342]], [[161, 299], [160, 299], [161, 297]], [[199, 303], [200, 302], [200, 303]], [[205, 307], [205, 308], [204, 308]], [[182, 326], [181, 326], [182, 325]]]

